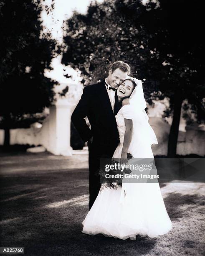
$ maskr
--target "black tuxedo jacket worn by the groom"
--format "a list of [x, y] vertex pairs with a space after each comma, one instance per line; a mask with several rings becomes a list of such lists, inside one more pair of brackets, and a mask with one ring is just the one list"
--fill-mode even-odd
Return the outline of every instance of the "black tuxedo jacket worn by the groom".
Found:
[[[118, 105], [117, 108], [120, 106]], [[91, 129], [84, 119], [86, 116]], [[93, 137], [92, 144], [96, 150], [101, 148], [104, 153], [114, 153], [119, 143], [119, 133], [104, 80], [84, 87], [81, 100], [73, 111], [71, 120], [84, 142]]]

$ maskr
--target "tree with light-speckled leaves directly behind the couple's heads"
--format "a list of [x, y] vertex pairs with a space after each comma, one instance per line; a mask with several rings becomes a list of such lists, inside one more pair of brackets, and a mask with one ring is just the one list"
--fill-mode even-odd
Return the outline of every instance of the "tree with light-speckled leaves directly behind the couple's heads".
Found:
[[[137, 5], [139, 13], [146, 11], [140, 1]], [[85, 84], [106, 77], [110, 64], [116, 60], [130, 64], [133, 76], [148, 76], [152, 54], [143, 46], [146, 45], [147, 34], [142, 26], [133, 24], [129, 15], [127, 8], [117, 10], [112, 0], [91, 4], [86, 15], [74, 12], [66, 22], [62, 63], [80, 70]], [[134, 11], [132, 15], [135, 15]], [[150, 102], [155, 84], [147, 84], [145, 97]]]

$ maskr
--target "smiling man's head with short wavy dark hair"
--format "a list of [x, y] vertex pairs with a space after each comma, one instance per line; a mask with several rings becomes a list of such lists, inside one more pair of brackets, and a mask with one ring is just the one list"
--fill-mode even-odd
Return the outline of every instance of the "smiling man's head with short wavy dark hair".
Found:
[[123, 61], [116, 61], [111, 65], [106, 81], [112, 88], [116, 88], [129, 74], [129, 65]]

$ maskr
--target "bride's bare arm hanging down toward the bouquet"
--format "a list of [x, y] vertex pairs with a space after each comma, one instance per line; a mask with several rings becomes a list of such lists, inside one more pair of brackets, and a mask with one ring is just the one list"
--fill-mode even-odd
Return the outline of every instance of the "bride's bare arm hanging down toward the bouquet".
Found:
[[124, 118], [124, 123], [125, 123], [126, 130], [124, 133], [124, 141], [123, 141], [123, 147], [121, 152], [120, 164], [127, 163], [127, 151], [132, 139], [132, 129], [133, 129], [132, 119]]

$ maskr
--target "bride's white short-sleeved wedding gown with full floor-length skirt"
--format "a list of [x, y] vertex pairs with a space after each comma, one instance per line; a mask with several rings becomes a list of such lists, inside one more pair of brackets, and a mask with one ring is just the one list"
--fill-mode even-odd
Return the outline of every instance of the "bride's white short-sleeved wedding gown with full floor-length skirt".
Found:
[[[113, 158], [120, 158], [124, 141], [124, 118], [129, 118], [129, 105], [123, 106], [116, 115], [120, 143]], [[141, 133], [145, 132], [142, 129]], [[146, 136], [146, 134], [135, 134]], [[133, 138], [133, 136], [132, 136]], [[134, 158], [153, 158], [151, 145], [130, 143], [129, 153]], [[126, 196], [121, 199], [121, 191], [126, 189]], [[122, 193], [123, 195], [123, 193]], [[167, 214], [160, 192], [159, 183], [123, 184], [117, 189], [105, 188], [101, 190], [83, 221], [83, 233], [89, 235], [104, 234], [114, 238], [132, 240], [137, 235], [156, 237], [166, 234], [172, 223]]]

